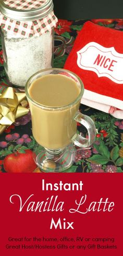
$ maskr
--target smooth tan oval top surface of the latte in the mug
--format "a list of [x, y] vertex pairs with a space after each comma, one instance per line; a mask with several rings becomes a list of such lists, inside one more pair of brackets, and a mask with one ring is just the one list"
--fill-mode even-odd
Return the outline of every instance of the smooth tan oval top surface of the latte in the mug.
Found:
[[33, 100], [49, 107], [62, 107], [74, 102], [80, 94], [76, 81], [61, 74], [49, 74], [32, 82], [29, 94]]

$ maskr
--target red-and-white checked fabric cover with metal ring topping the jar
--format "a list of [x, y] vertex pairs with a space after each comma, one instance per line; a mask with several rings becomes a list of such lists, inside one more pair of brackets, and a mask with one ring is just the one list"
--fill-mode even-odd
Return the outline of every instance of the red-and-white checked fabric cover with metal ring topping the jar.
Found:
[[52, 0], [4, 0], [3, 6], [0, 7], [1, 28], [19, 37], [40, 36], [56, 26]]

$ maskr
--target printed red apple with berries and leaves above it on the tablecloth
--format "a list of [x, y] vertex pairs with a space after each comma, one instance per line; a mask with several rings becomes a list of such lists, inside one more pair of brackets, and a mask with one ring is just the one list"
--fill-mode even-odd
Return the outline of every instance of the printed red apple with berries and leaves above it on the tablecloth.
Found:
[[[30, 138], [31, 137], [31, 138]], [[33, 159], [33, 148], [35, 140], [32, 136], [24, 133], [14, 132], [5, 135], [5, 140], [0, 141], [0, 157], [4, 158], [0, 162], [0, 169], [6, 172], [33, 172], [36, 164]]]

